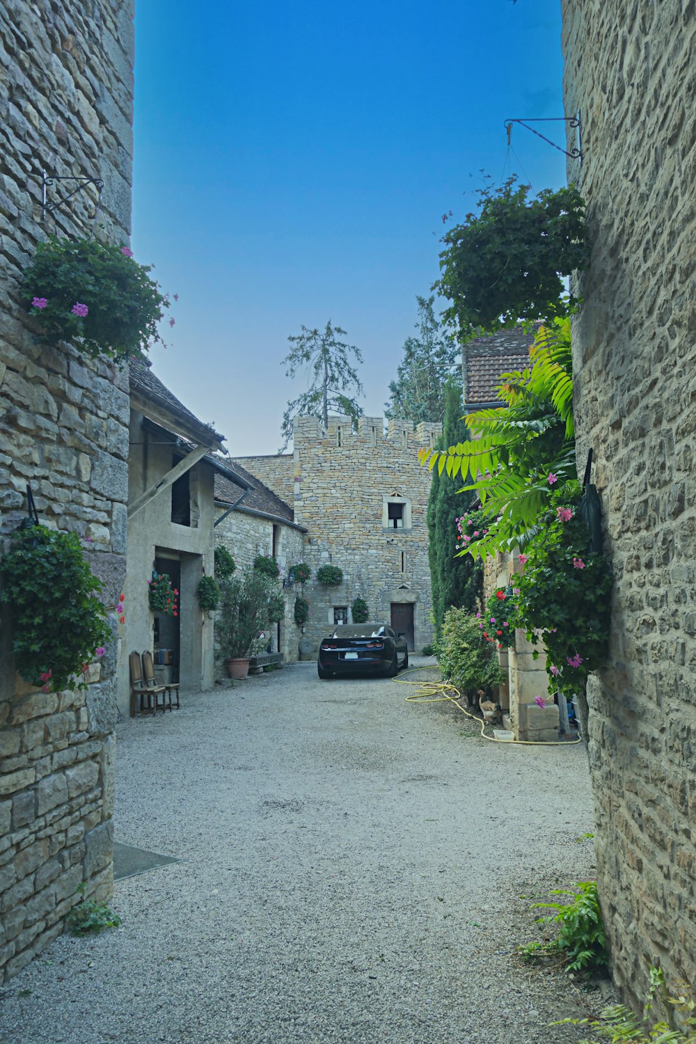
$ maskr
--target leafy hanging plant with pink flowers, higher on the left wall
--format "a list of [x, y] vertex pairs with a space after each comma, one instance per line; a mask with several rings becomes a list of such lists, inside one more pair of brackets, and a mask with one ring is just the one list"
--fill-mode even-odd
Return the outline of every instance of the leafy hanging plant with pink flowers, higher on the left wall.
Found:
[[169, 295], [149, 271], [127, 246], [51, 236], [37, 247], [22, 291], [45, 343], [71, 341], [92, 358], [125, 359], [162, 340]]

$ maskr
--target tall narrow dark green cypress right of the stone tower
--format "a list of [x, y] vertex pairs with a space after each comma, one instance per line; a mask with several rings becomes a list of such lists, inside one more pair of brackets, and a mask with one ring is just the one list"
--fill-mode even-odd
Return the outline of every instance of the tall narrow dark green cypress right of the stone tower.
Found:
[[[440, 448], [466, 440], [461, 419], [461, 395], [453, 384], [446, 388], [445, 431]], [[476, 609], [483, 596], [483, 565], [471, 554], [455, 557], [457, 518], [471, 507], [476, 495], [461, 494], [447, 472], [433, 474], [428, 499], [428, 560], [433, 597], [435, 635], [439, 637], [445, 613], [451, 607]]]

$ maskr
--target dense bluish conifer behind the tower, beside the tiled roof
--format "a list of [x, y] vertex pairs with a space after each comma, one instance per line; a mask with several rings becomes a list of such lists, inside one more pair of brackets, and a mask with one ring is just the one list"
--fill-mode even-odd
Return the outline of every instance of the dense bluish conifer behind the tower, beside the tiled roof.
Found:
[[458, 376], [460, 352], [455, 338], [445, 333], [433, 310], [434, 296], [416, 296], [418, 322], [416, 337], [404, 341], [404, 358], [399, 363], [397, 380], [389, 383], [389, 402], [384, 416], [441, 422], [445, 417], [445, 393]]

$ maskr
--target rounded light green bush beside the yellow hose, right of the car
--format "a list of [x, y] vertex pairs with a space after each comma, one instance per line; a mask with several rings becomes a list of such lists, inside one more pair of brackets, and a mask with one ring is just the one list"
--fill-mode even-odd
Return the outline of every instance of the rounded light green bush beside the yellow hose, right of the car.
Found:
[[503, 682], [495, 649], [486, 645], [478, 620], [465, 609], [448, 610], [433, 647], [440, 674], [460, 692], [474, 693]]

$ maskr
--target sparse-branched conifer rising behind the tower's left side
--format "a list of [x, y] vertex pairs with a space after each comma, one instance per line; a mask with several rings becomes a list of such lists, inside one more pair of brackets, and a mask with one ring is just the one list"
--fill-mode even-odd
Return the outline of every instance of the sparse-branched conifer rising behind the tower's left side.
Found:
[[323, 330], [308, 330], [303, 326], [302, 333], [288, 337], [292, 348], [283, 359], [288, 364], [285, 376], [292, 379], [307, 366], [310, 378], [307, 392], [288, 402], [283, 414], [283, 445], [279, 452], [287, 448], [292, 438], [293, 418], [299, 414], [319, 416], [326, 428], [329, 410], [335, 409], [357, 423], [362, 408], [356, 397], [364, 395], [364, 389], [353, 360], [362, 362], [362, 353], [355, 345], [338, 340], [345, 335], [345, 330], [332, 326], [329, 319]]

